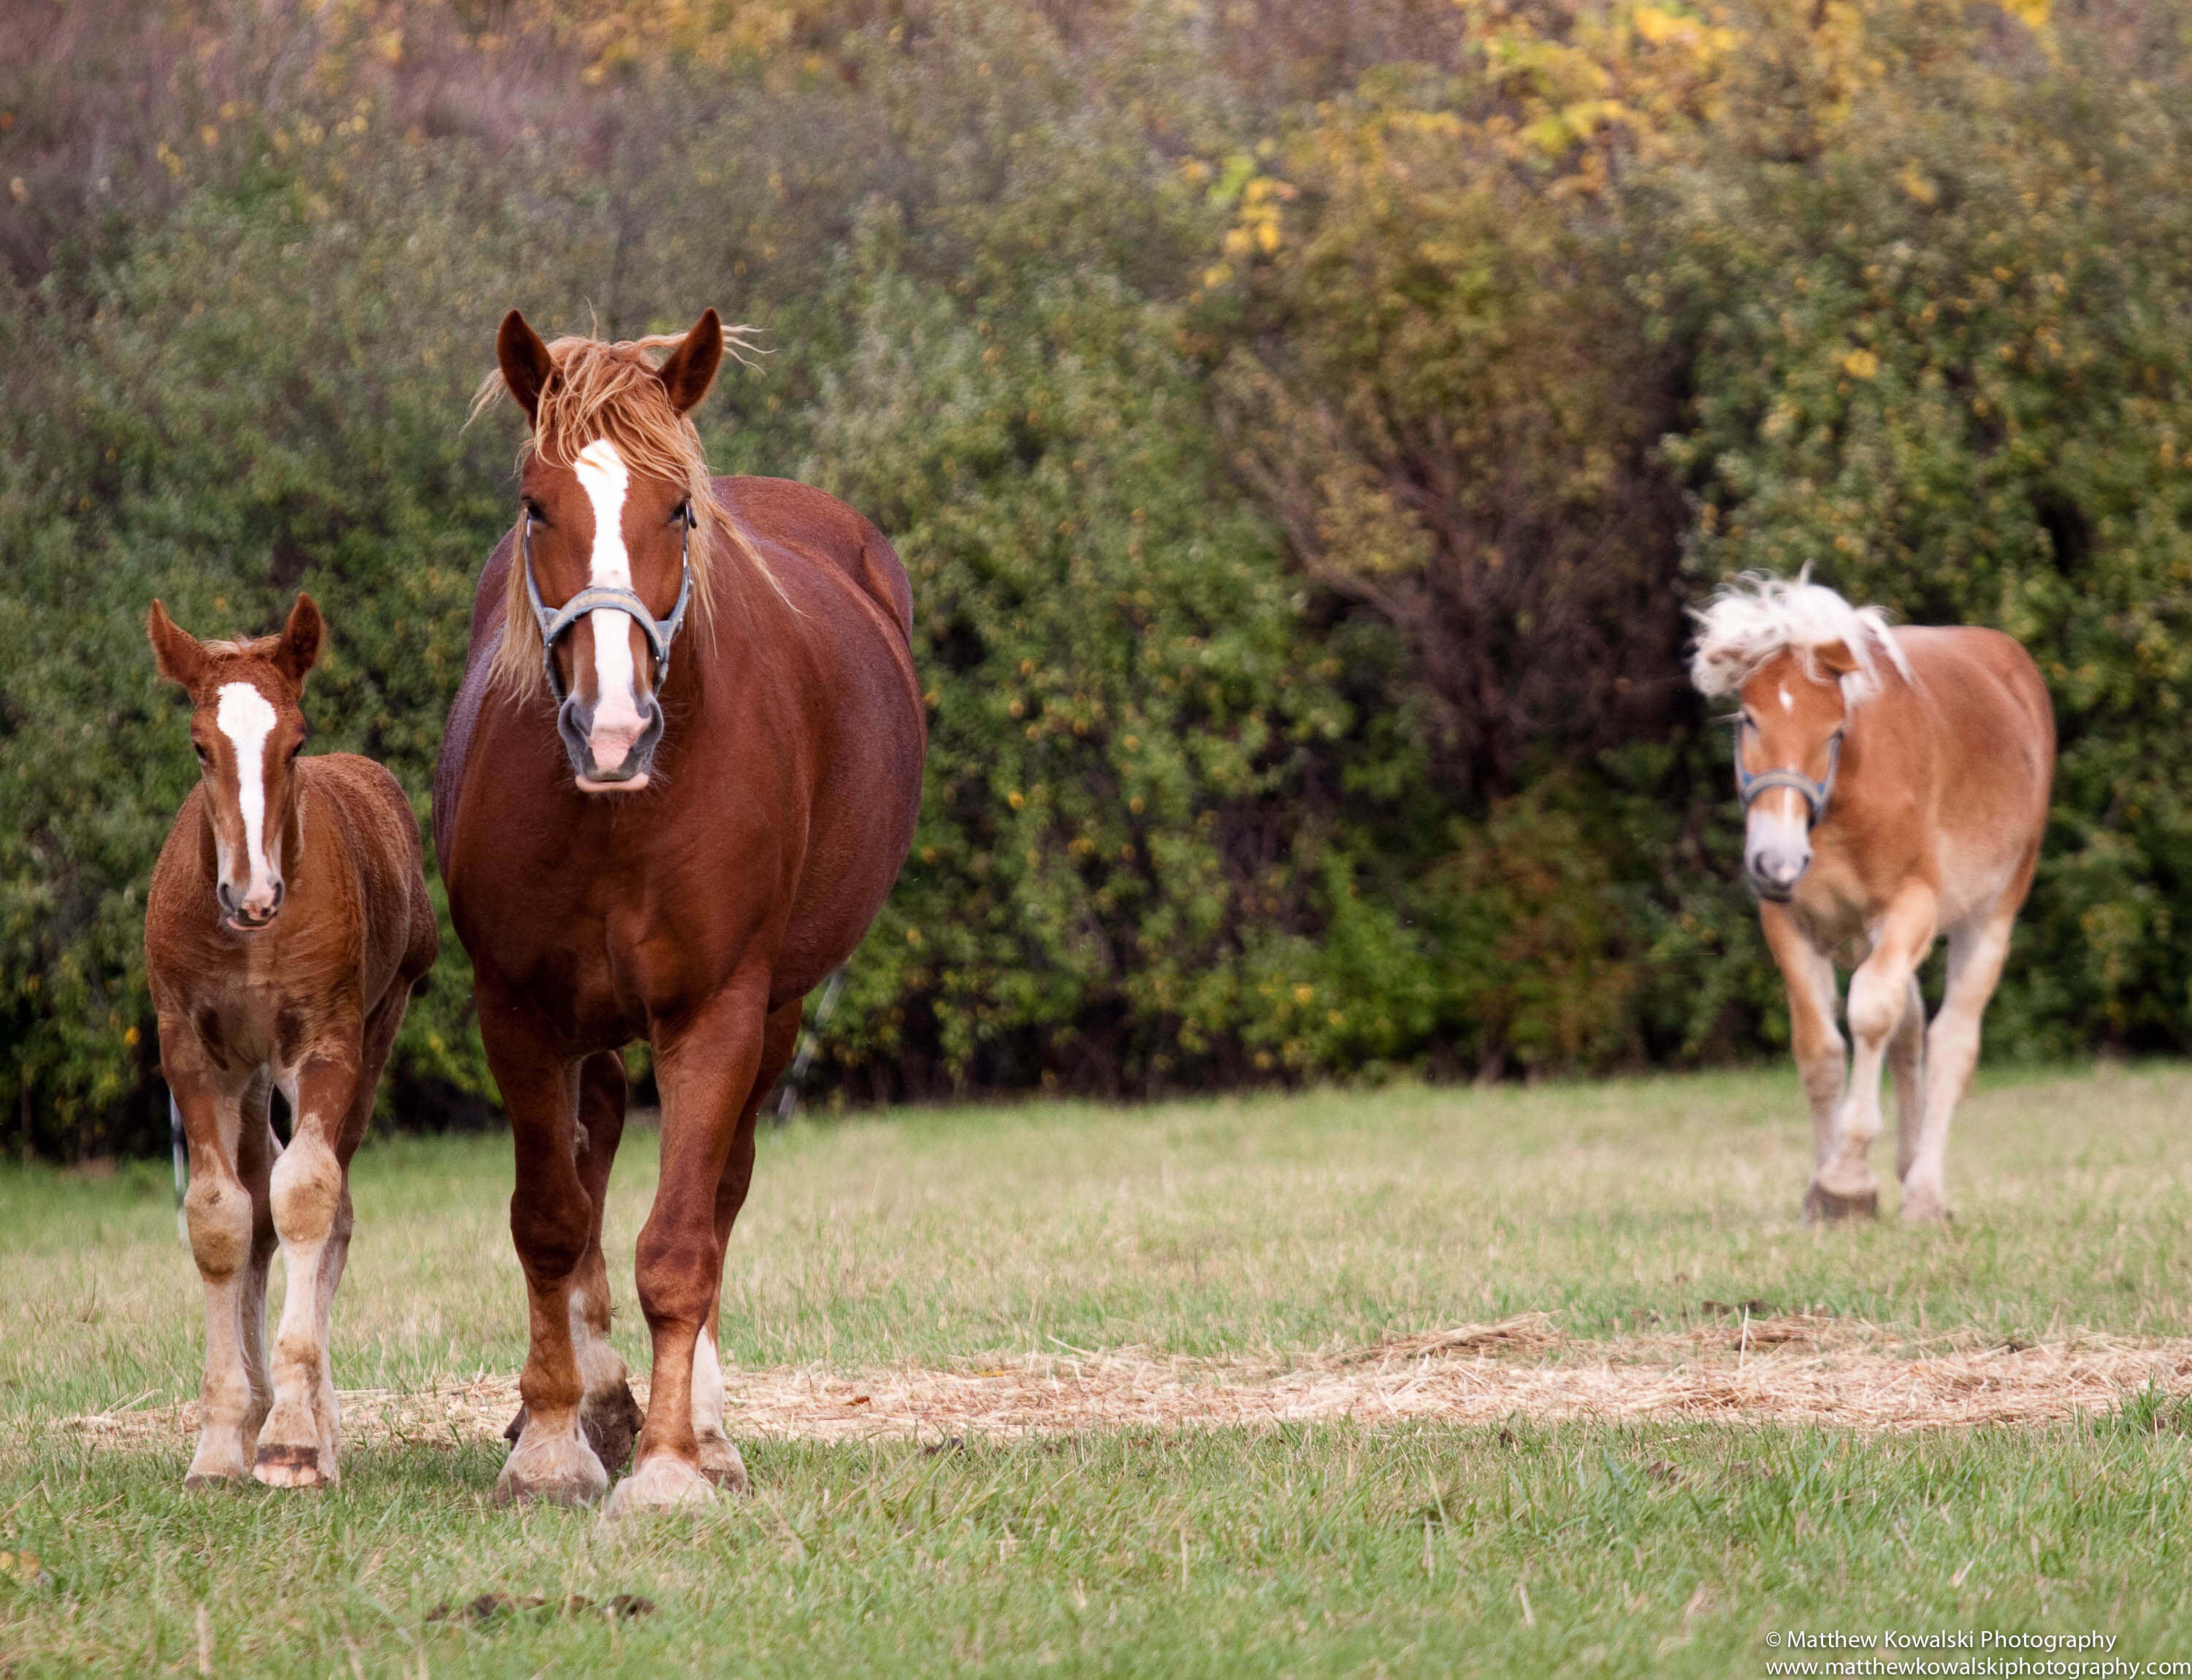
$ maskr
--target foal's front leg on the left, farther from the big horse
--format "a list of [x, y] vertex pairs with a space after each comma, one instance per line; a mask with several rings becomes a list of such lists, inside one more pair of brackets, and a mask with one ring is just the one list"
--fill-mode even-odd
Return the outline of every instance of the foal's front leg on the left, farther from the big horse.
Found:
[[197, 1390], [197, 1452], [184, 1487], [250, 1476], [263, 1406], [250, 1371], [252, 1195], [237, 1171], [243, 1094], [235, 1081], [191, 1066], [180, 1033], [162, 1031], [169, 1090], [191, 1145], [191, 1189], [182, 1197], [191, 1257], [206, 1285], [206, 1375]]

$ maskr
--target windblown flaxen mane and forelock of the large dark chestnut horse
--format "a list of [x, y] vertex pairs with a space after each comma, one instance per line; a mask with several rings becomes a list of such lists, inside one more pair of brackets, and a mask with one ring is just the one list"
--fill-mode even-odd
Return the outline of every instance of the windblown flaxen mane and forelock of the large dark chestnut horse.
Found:
[[[743, 327], [728, 327], [723, 340], [734, 355], [747, 344]], [[686, 612], [686, 634], [706, 640], [715, 623], [715, 568], [723, 550], [737, 553], [778, 594], [783, 594], [783, 583], [710, 493], [708, 456], [701, 452], [699, 432], [690, 417], [677, 412], [662, 390], [662, 382], [655, 379], [655, 362], [649, 351], [675, 351], [682, 342], [684, 333], [651, 333], [616, 344], [598, 338], [557, 338], [548, 344], [555, 371], [541, 388], [533, 432], [517, 450], [517, 465], [522, 469], [537, 452], [544, 461], [570, 467], [587, 443], [607, 439], [633, 474], [653, 474], [684, 485], [697, 518], [690, 548], [693, 605]], [[489, 373], [471, 399], [471, 419], [478, 419], [502, 395], [502, 373]], [[511, 693], [526, 693], [541, 682], [541, 636], [526, 601], [522, 564], [511, 566], [509, 592], [502, 603], [502, 640], [495, 645], [491, 680]]]

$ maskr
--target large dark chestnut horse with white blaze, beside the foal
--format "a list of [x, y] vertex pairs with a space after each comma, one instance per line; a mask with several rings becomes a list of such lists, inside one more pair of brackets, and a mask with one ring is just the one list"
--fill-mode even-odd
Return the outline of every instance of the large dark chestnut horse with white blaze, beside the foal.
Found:
[[[669, 349], [655, 366], [649, 351]], [[927, 719], [883, 535], [780, 478], [712, 478], [688, 419], [723, 357], [682, 338], [544, 344], [500, 375], [533, 421], [434, 776], [434, 844], [517, 1147], [530, 1351], [500, 1498], [612, 1511], [743, 1487], [723, 1434], [723, 1246], [800, 998], [861, 941], [912, 844]], [[478, 410], [476, 410], [478, 412]], [[601, 1208], [623, 1046], [662, 1088], [640, 1230], [644, 1421], [609, 1347]]]

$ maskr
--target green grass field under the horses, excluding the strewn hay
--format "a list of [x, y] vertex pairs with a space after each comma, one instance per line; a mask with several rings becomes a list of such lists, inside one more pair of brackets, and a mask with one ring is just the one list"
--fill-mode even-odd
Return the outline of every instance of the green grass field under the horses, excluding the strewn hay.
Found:
[[[2192, 1336], [2192, 1072], [1995, 1075], [1940, 1230], [1800, 1219], [1793, 1077], [910, 1112], [767, 1136], [726, 1360], [1331, 1355], [1556, 1314], [1548, 1358], [1758, 1301], [1887, 1340]], [[627, 1136], [609, 1226], [653, 1180]], [[1881, 1167], [1892, 1165], [1883, 1138]], [[344, 1388], [522, 1360], [500, 1138], [368, 1145]], [[0, 1171], [0, 1671], [1765, 1673], [1780, 1630], [2100, 1630], [2192, 1658], [2192, 1412], [1116, 1430], [745, 1448], [758, 1496], [609, 1526], [500, 1511], [500, 1445], [346, 1448], [327, 1496], [184, 1496], [186, 1452], [61, 1426], [191, 1399], [164, 1167]], [[737, 1421], [732, 1419], [732, 1428]], [[37, 1555], [24, 1566], [20, 1553]], [[539, 1597], [432, 1619], [480, 1594]], [[572, 1608], [640, 1594], [614, 1619]]]

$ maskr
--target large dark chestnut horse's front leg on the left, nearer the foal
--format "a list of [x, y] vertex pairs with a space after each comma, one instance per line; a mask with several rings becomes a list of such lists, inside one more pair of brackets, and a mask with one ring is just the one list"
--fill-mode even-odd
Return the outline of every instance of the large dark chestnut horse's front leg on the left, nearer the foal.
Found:
[[517, 1187], [511, 1241], [526, 1274], [526, 1369], [517, 1377], [517, 1445], [495, 1478], [498, 1500], [576, 1505], [609, 1487], [609, 1472], [581, 1432], [585, 1373], [579, 1364], [581, 1276], [594, 1204], [579, 1178], [579, 1064], [528, 1011], [480, 987], [480, 1037], [511, 1116]]

